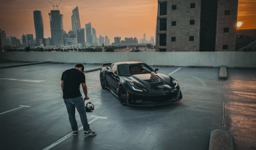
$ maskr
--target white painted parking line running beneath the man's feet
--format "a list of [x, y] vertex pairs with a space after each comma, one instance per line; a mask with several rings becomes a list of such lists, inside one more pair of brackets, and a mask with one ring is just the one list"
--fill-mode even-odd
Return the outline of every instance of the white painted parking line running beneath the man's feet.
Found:
[[[91, 119], [88, 124], [92, 124], [94, 121], [96, 121], [97, 119], [107, 119], [107, 117], [100, 117], [97, 115], [91, 115], [91, 117], [94, 117], [94, 119]], [[83, 126], [79, 127], [79, 131], [83, 129]], [[59, 143], [63, 142], [64, 140], [66, 140], [67, 138], [69, 138], [70, 136], [73, 135], [73, 132], [71, 132], [70, 134], [67, 134], [66, 136], [63, 136], [63, 138], [60, 138], [59, 140], [57, 140], [55, 143], [49, 145], [48, 147], [44, 148], [43, 150], [48, 150], [51, 149], [53, 147], [55, 147], [56, 145], [58, 145]]]

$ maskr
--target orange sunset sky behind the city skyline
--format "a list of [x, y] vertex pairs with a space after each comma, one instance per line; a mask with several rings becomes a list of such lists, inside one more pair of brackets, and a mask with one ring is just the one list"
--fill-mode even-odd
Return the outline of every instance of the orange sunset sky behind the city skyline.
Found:
[[[49, 0], [59, 3], [60, 0]], [[74, 7], [79, 6], [81, 27], [91, 22], [97, 36], [137, 37], [146, 39], [155, 35], [157, 0], [62, 0], [59, 10], [63, 14], [63, 28], [72, 29], [71, 16]], [[256, 29], [256, 0], [239, 0], [238, 21], [240, 29]], [[23, 34], [33, 34], [33, 10], [40, 10], [44, 21], [44, 37], [51, 37], [48, 13], [53, 6], [47, 0], [0, 0], [0, 28], [8, 36], [18, 39]]]

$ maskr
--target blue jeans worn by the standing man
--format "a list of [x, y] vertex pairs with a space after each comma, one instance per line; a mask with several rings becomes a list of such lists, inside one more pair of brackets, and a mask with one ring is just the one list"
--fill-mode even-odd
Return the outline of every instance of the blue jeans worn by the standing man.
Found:
[[[73, 131], [77, 131], [79, 128], [76, 122], [76, 110], [79, 112], [81, 122], [83, 124], [83, 130], [90, 130], [89, 124], [87, 121], [86, 111], [85, 111], [85, 102], [83, 101], [83, 97], [79, 96], [76, 98], [64, 98], [64, 102], [67, 107], [68, 117], [70, 119], [71, 128]], [[75, 110], [76, 107], [76, 110]]]

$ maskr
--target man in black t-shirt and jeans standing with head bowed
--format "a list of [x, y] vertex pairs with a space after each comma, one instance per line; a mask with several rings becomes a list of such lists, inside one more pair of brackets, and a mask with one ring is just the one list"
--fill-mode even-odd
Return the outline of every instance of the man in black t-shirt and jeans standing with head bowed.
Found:
[[[73, 135], [78, 134], [78, 126], [75, 116], [75, 108], [79, 112], [85, 136], [95, 136], [96, 132], [91, 131], [87, 121], [85, 112], [84, 100], [89, 100], [87, 96], [87, 86], [85, 83], [85, 74], [83, 73], [83, 64], [76, 64], [74, 69], [68, 69], [61, 75], [61, 90], [63, 92], [63, 99], [67, 107], [68, 117], [70, 119]], [[80, 85], [82, 84], [85, 98], [83, 100], [80, 92]]]

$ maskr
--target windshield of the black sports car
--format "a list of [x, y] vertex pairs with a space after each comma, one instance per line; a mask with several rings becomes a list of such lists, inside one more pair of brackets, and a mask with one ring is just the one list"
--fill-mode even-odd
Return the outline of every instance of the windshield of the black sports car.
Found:
[[117, 69], [120, 76], [138, 75], [154, 71], [147, 64], [119, 64]]

